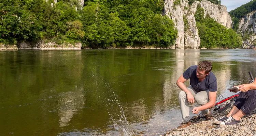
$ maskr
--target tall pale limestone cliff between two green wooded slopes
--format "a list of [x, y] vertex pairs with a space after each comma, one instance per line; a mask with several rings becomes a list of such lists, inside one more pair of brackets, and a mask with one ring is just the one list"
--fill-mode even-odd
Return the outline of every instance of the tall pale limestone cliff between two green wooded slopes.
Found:
[[[175, 45], [172, 48], [176, 49], [199, 49], [200, 37], [196, 27], [195, 12], [197, 5], [204, 9], [204, 16], [207, 14], [211, 18], [223, 26], [231, 27], [231, 17], [227, 12], [226, 6], [218, 6], [210, 1], [195, 1], [191, 6], [188, 5], [188, 0], [165, 0], [163, 15], [169, 16], [175, 24], [178, 31], [178, 37]], [[184, 21], [187, 21], [188, 26], [184, 26]], [[185, 24], [187, 25], [185, 22]]]

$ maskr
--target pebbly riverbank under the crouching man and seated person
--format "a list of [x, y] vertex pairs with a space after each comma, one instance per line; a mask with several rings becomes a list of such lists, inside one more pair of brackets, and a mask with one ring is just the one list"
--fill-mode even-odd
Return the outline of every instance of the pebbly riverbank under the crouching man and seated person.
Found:
[[[214, 119], [219, 119], [230, 112], [228, 110], [214, 115]], [[232, 126], [220, 126], [213, 121], [198, 119], [196, 116], [191, 118], [192, 125], [182, 130], [173, 129], [160, 136], [256, 136], [256, 110], [251, 114], [241, 118], [241, 122]]]

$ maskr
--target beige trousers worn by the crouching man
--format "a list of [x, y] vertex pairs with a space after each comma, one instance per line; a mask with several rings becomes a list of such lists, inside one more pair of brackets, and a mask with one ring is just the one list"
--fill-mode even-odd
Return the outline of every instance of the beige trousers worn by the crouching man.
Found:
[[[187, 87], [187, 89], [191, 92], [191, 94], [194, 96], [195, 101], [200, 105], [204, 105], [208, 103], [209, 100], [209, 90], [204, 90], [197, 92], [192, 86]], [[181, 105], [181, 116], [182, 116], [182, 122], [188, 122], [189, 117], [189, 103], [187, 100], [187, 94], [183, 90], [179, 94], [179, 101]], [[209, 109], [202, 110], [202, 113], [207, 113]]]

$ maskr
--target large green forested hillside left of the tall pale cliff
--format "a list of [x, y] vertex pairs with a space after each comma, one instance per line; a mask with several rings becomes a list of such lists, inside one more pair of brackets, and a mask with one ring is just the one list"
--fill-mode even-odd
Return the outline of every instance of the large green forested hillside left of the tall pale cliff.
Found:
[[87, 0], [82, 8], [76, 0], [1, 0], [0, 43], [43, 39], [87, 47], [166, 47], [177, 32], [173, 21], [161, 16], [163, 2]]

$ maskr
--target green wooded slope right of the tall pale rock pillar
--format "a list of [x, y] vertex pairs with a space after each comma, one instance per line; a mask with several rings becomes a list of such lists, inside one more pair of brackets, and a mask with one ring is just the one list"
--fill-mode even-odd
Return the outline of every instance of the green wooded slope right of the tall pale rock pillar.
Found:
[[200, 47], [205, 48], [241, 48], [242, 38], [231, 28], [228, 29], [207, 15], [198, 6], [195, 13], [196, 26], [201, 39]]

